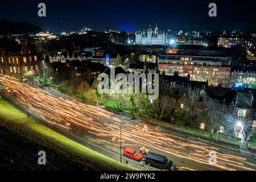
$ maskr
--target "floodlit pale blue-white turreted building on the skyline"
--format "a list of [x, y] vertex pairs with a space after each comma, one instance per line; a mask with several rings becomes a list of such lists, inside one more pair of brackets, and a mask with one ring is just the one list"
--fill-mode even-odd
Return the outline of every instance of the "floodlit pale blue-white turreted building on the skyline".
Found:
[[135, 41], [143, 45], [163, 45], [167, 43], [167, 34], [160, 32], [157, 26], [154, 31], [149, 27], [147, 31], [136, 32]]

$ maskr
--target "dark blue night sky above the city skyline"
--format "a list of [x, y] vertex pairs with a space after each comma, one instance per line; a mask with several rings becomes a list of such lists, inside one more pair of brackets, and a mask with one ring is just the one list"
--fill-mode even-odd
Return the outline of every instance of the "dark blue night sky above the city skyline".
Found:
[[[38, 16], [40, 2], [46, 3], [45, 18]], [[211, 2], [217, 4], [214, 18], [208, 16]], [[160, 30], [256, 30], [255, 0], [1, 0], [0, 7], [0, 20], [26, 21], [56, 33], [82, 26], [136, 31], [155, 23]]]

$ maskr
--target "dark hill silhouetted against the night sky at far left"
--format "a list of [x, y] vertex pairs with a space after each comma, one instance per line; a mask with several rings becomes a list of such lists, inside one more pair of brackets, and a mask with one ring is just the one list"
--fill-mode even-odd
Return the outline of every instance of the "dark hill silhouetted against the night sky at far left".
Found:
[[11, 22], [9, 20], [0, 21], [0, 35], [36, 33], [44, 31], [43, 28], [28, 22]]

